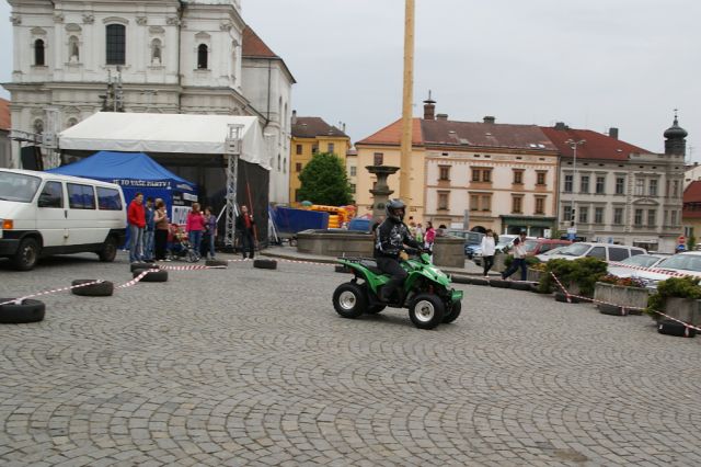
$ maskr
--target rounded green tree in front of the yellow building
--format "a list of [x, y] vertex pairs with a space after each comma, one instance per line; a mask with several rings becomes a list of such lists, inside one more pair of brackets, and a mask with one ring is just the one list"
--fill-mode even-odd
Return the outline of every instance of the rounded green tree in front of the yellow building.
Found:
[[329, 206], [350, 203], [350, 185], [343, 160], [331, 152], [319, 152], [299, 174], [302, 201]]

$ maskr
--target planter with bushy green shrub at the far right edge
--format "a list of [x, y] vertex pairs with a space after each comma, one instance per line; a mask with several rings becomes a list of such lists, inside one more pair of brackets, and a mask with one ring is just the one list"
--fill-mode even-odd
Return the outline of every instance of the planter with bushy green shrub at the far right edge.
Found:
[[662, 318], [657, 311], [692, 326], [701, 323], [701, 285], [699, 277], [670, 277], [657, 284], [650, 296], [645, 312], [653, 319]]

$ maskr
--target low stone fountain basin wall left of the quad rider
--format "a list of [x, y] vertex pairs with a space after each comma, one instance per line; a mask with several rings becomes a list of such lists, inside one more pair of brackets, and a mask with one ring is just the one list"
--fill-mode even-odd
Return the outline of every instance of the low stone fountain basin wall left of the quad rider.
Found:
[[297, 234], [297, 251], [324, 257], [372, 257], [372, 236], [347, 230], [304, 230]]

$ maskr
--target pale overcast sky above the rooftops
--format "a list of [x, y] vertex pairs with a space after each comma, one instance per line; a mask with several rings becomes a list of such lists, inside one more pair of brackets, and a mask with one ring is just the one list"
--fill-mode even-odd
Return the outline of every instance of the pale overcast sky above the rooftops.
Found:
[[[404, 0], [242, 0], [297, 84], [291, 107], [360, 140], [401, 116]], [[11, 79], [0, 0], [0, 82]], [[607, 132], [655, 152], [674, 109], [701, 161], [701, 1], [416, 0], [414, 115]], [[9, 93], [1, 91], [5, 99]]]

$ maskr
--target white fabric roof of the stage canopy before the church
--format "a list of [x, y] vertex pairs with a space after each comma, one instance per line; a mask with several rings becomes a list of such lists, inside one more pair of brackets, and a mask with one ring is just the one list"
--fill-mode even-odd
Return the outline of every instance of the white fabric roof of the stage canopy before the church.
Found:
[[229, 125], [242, 125], [241, 159], [271, 170], [257, 117], [99, 112], [58, 135], [62, 150], [223, 155]]

